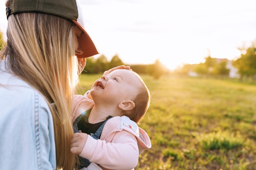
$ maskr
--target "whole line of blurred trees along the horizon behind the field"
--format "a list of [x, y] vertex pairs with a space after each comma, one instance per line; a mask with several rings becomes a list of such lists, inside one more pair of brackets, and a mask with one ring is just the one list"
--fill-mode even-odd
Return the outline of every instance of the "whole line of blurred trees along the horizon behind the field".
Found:
[[[3, 33], [0, 31], [0, 50], [4, 48], [6, 42]], [[241, 52], [240, 57], [232, 60], [232, 66], [237, 68], [240, 79], [251, 78], [256, 79], [256, 41], [248, 48], [238, 48]], [[138, 74], [152, 75], [155, 79], [159, 79], [164, 74], [189, 75], [190, 72], [196, 73], [198, 76], [228, 77], [230, 69], [227, 68], [229, 60], [212, 58], [210, 55], [205, 57], [205, 62], [199, 64], [184, 64], [170, 71], [158, 59], [153, 64], [132, 64], [130, 67]], [[119, 65], [127, 65], [118, 56], [114, 55], [110, 61], [105, 55], [99, 57], [88, 57], [85, 69], [82, 73], [99, 74]]]

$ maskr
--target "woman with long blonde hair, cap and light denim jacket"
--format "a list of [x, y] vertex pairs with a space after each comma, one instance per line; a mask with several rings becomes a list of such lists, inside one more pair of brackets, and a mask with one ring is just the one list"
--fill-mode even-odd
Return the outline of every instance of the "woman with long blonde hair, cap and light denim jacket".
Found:
[[84, 29], [79, 3], [7, 0], [6, 7], [0, 169], [73, 170], [72, 96], [85, 57], [98, 54]]

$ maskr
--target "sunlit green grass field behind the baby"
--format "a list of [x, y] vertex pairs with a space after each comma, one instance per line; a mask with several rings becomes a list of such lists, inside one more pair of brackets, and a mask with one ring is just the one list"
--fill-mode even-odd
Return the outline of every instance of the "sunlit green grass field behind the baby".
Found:
[[[101, 75], [81, 75], [83, 94]], [[139, 125], [152, 148], [135, 170], [256, 170], [256, 85], [142, 75], [151, 105]]]

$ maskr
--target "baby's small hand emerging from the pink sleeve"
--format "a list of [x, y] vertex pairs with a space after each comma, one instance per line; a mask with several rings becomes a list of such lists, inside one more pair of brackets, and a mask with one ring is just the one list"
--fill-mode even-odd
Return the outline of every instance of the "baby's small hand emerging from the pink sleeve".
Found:
[[74, 133], [71, 139], [71, 149], [70, 151], [74, 154], [80, 155], [85, 146], [85, 142], [88, 138], [86, 133]]

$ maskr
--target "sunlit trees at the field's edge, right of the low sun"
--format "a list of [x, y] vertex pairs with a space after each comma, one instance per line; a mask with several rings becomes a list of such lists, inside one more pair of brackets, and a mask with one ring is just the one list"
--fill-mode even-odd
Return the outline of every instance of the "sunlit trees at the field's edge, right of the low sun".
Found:
[[[240, 56], [231, 60], [231, 65], [237, 69], [240, 80], [256, 79], [256, 42], [252, 42], [248, 48], [238, 48]], [[175, 73], [189, 75], [194, 72], [198, 76], [229, 77], [230, 68], [227, 67], [229, 60], [205, 57], [205, 62], [199, 64], [184, 64], [177, 68]]]

